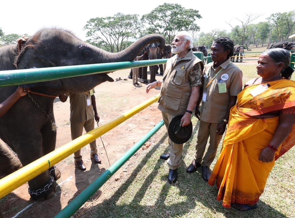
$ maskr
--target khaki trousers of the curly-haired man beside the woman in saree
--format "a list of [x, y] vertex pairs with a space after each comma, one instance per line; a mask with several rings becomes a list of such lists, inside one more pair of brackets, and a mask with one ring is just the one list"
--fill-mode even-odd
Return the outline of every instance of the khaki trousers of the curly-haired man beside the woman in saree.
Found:
[[[218, 123], [206, 123], [200, 120], [195, 161], [202, 163], [202, 165], [206, 167], [210, 167], [210, 164], [213, 162], [216, 156], [218, 145], [222, 138], [222, 135], [216, 134], [217, 126]], [[209, 147], [205, 156], [203, 157], [209, 136]]]

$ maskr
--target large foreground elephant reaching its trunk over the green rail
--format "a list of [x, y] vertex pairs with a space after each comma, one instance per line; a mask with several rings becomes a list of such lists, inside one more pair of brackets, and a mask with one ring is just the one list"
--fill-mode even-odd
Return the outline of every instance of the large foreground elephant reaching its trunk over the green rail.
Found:
[[[125, 50], [110, 53], [81, 41], [68, 30], [42, 29], [28, 39], [14, 63], [17, 69], [30, 69], [133, 61], [138, 51], [156, 41], [159, 41], [159, 47], [162, 49], [165, 45], [163, 36], [150, 34], [140, 38]], [[3, 57], [0, 59], [3, 60]], [[3, 66], [5, 65], [1, 65], [0, 71], [10, 69]], [[55, 149], [56, 143], [56, 131], [52, 128], [54, 96], [66, 92], [89, 91], [105, 81], [114, 80], [107, 73], [100, 73], [21, 85], [30, 87], [34, 93], [53, 97], [29, 93], [19, 99], [0, 117], [0, 138], [17, 153], [23, 166], [48, 154]], [[0, 88], [0, 102], [7, 99], [16, 89], [17, 86]], [[0, 164], [2, 161], [1, 159]], [[29, 194], [33, 200], [45, 200], [55, 193], [57, 184], [53, 175], [56, 172], [53, 166], [49, 169], [51, 172], [46, 170], [28, 182]], [[40, 194], [37, 193], [39, 189]]]

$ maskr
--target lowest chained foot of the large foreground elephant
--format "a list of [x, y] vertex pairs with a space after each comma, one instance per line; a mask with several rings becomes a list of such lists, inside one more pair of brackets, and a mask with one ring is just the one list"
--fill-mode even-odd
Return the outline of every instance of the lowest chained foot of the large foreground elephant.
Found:
[[57, 187], [57, 184], [54, 181], [53, 176], [50, 176], [50, 182], [47, 185], [37, 190], [31, 190], [29, 188], [29, 194], [33, 200], [43, 201], [43, 200], [51, 198], [54, 195], [56, 191], [56, 187]]

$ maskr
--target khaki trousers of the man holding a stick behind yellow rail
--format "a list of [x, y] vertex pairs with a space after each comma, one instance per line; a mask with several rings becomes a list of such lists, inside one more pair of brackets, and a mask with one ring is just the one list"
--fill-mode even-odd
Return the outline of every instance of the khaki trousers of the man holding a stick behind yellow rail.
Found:
[[[72, 135], [72, 140], [78, 138], [79, 136], [82, 135], [83, 132], [83, 127], [85, 128], [86, 132], [91, 131], [94, 129], [94, 118], [89, 119], [85, 122], [71, 122], [71, 135]], [[90, 142], [90, 149], [91, 153], [90, 155], [95, 155], [97, 154], [97, 149], [96, 149], [96, 140], [93, 142]], [[82, 160], [81, 156], [81, 150], [76, 151], [74, 153], [74, 159], [75, 160]]]

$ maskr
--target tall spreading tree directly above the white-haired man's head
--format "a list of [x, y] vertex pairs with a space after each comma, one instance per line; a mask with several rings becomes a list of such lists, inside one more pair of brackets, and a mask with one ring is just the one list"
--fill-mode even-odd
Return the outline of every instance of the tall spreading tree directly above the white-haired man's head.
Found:
[[181, 30], [195, 33], [200, 27], [195, 23], [202, 18], [198, 10], [185, 9], [179, 4], [164, 3], [149, 14], [142, 16], [141, 21], [149, 25], [148, 33], [162, 34], [166, 43], [171, 43], [176, 33]]

